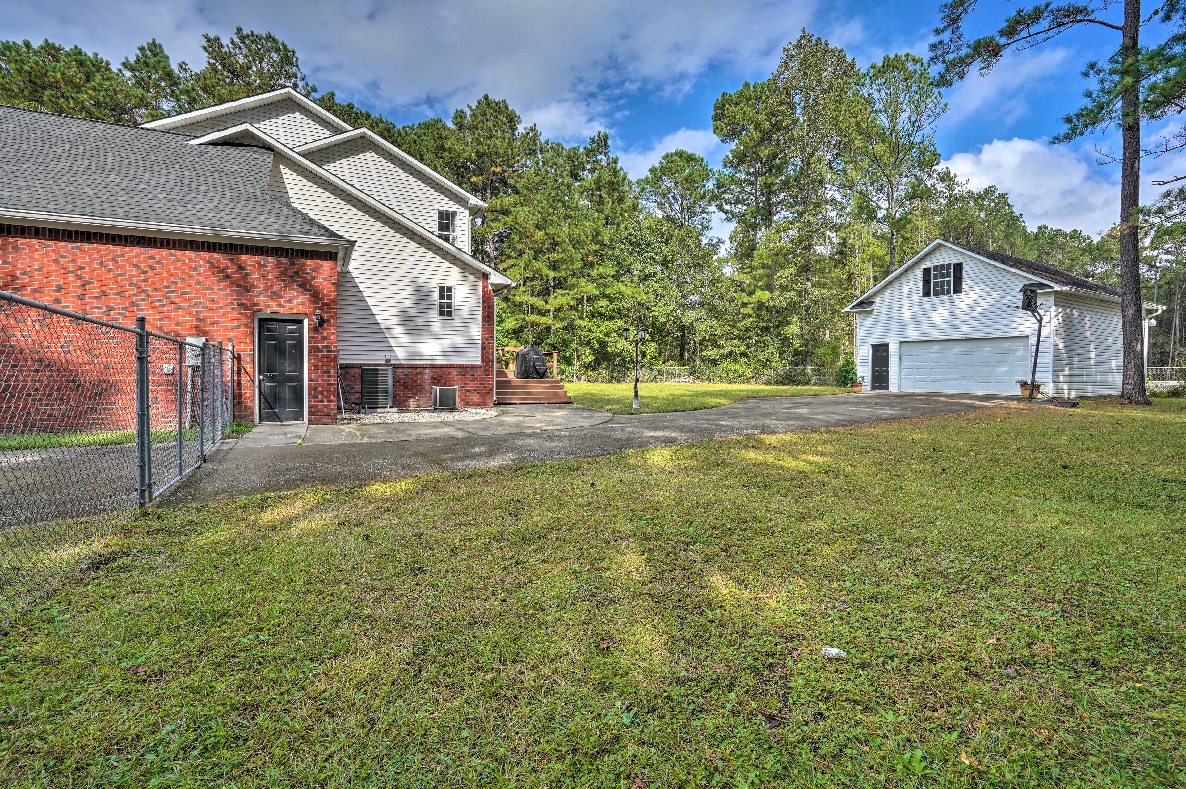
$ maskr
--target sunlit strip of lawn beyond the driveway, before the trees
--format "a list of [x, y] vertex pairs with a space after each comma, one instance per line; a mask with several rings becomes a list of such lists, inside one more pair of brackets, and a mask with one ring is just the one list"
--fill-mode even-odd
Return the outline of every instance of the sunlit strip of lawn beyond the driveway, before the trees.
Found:
[[573, 403], [610, 413], [665, 413], [699, 411], [737, 403], [746, 397], [795, 397], [836, 394], [849, 389], [836, 386], [745, 386], [734, 384], [639, 384], [635, 410], [635, 384], [565, 384]]

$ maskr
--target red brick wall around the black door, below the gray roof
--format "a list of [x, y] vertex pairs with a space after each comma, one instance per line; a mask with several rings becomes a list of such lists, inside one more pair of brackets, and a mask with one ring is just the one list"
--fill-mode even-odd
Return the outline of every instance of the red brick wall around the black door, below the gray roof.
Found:
[[[248, 422], [255, 418], [255, 314], [312, 319], [314, 310], [321, 312], [325, 325], [318, 328], [308, 321], [307, 419], [312, 424], [337, 421], [337, 282], [333, 252], [0, 224], [4, 290], [127, 326], [142, 313], [148, 328], [160, 334], [234, 342], [241, 354], [235, 417]], [[56, 342], [43, 339], [50, 346]], [[90, 397], [90, 418], [95, 419], [103, 411], [126, 410], [123, 399], [134, 380], [125, 380], [134, 376], [132, 359], [125, 373], [126, 354], [108, 341], [100, 347], [108, 348], [101, 363], [81, 372], [71, 372], [71, 363], [55, 360], [57, 352], [51, 352], [39, 373], [50, 383], [74, 381], [76, 389], [79, 381], [104, 377], [96, 380], [96, 393]], [[154, 351], [151, 361], [159, 366], [165, 354]], [[69, 390], [62, 390], [62, 397], [68, 394]], [[102, 397], [116, 399], [107, 404]]]

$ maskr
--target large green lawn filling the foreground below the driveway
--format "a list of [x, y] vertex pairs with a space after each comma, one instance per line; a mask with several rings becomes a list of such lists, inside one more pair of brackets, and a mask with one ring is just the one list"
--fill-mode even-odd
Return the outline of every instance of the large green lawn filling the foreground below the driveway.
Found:
[[1184, 512], [1181, 400], [154, 512], [9, 626], [0, 775], [1184, 785]]

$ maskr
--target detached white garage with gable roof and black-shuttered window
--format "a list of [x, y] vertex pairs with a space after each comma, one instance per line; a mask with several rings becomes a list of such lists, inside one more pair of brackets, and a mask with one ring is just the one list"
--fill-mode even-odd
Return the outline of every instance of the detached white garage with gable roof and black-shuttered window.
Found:
[[[872, 390], [1016, 394], [1029, 378], [1042, 314], [1038, 380], [1056, 397], [1120, 394], [1120, 294], [1045, 263], [936, 240], [844, 308], [856, 315], [856, 368]], [[1146, 302], [1146, 315], [1161, 312]], [[1148, 323], [1146, 323], [1148, 326]], [[1148, 332], [1148, 329], [1146, 329]]]

